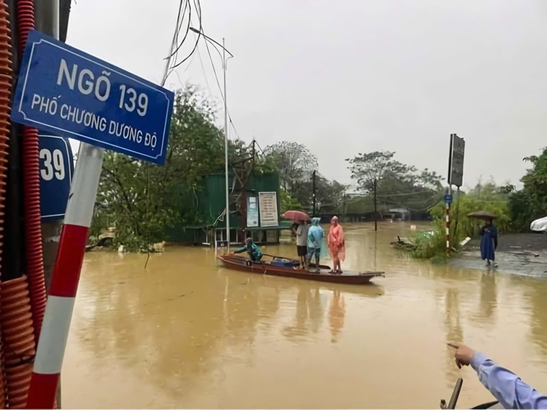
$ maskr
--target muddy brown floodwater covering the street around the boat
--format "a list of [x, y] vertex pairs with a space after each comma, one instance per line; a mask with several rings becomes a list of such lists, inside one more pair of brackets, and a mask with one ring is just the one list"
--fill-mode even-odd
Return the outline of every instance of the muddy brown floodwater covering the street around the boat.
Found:
[[62, 406], [438, 408], [460, 376], [459, 408], [492, 400], [447, 341], [547, 392], [547, 280], [409, 259], [389, 246], [408, 230], [345, 225], [342, 268], [386, 272], [370, 286], [230, 271], [200, 247], [147, 269], [146, 255], [86, 254]]

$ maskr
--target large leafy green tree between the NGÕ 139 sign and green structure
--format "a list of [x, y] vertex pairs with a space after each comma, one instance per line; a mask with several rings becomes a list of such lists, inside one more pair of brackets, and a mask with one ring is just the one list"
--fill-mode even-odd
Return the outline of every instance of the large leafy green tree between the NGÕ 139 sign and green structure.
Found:
[[[107, 151], [91, 234], [115, 227], [114, 244], [147, 250], [163, 239], [165, 226], [194, 224], [196, 189], [204, 175], [224, 169], [224, 136], [215, 109], [195, 86], [176, 95], [165, 166]], [[246, 155], [238, 141], [231, 156]]]

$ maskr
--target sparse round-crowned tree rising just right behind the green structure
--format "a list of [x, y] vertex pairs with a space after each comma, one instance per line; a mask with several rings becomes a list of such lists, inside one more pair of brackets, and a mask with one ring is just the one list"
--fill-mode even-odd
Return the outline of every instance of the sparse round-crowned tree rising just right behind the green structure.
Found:
[[296, 142], [282, 141], [269, 145], [264, 154], [277, 163], [283, 189], [291, 196], [295, 195], [298, 184], [311, 177], [311, 173], [317, 169], [315, 155], [305, 145]]

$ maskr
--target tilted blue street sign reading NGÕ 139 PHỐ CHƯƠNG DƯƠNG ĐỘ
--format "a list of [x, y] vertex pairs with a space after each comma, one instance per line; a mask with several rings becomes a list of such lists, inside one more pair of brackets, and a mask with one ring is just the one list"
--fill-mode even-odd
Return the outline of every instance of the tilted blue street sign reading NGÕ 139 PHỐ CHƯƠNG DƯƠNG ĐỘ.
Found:
[[172, 91], [31, 31], [11, 119], [162, 165], [173, 99]]

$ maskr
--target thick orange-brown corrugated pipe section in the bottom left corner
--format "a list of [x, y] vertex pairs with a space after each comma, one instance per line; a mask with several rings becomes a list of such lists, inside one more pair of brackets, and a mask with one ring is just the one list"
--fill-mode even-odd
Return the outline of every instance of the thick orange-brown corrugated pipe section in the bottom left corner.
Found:
[[[3, 1], [3, 0], [2, 0]], [[0, 285], [0, 324], [9, 408], [24, 408], [32, 376], [36, 343], [25, 275]]]

